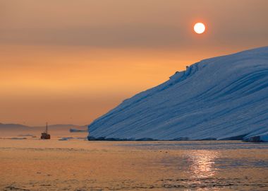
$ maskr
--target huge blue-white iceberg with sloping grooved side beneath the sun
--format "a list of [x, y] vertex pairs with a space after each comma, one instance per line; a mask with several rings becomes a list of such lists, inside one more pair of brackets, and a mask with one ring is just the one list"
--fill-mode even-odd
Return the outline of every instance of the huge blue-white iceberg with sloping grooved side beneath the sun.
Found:
[[108, 139], [247, 139], [268, 134], [268, 47], [197, 62], [124, 100], [88, 129], [91, 138]]

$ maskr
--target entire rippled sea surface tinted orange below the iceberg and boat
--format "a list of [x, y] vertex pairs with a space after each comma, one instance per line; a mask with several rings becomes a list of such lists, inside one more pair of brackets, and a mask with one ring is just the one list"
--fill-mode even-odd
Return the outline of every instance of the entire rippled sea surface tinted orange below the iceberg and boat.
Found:
[[0, 139], [0, 190], [268, 190], [268, 144]]

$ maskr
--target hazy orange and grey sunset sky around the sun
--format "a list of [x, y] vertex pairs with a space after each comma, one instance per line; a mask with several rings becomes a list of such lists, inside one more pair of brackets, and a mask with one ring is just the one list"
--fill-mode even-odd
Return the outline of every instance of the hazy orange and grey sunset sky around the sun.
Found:
[[[267, 0], [0, 0], [0, 122], [89, 124], [207, 57], [268, 45]], [[203, 22], [207, 31], [193, 33]]]

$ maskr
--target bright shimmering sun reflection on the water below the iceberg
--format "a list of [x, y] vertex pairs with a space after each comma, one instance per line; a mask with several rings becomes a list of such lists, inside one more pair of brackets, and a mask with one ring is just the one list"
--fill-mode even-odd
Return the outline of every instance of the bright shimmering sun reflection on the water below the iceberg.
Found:
[[219, 158], [217, 151], [198, 150], [188, 154], [190, 172], [192, 178], [209, 178], [213, 176], [217, 168], [214, 168], [215, 160]]

